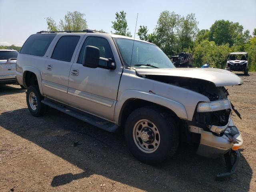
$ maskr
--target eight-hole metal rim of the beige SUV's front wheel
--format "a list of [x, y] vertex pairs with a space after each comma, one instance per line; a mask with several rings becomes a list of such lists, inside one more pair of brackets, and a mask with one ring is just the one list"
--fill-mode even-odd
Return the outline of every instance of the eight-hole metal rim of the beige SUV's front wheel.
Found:
[[150, 120], [139, 120], [133, 127], [133, 140], [142, 152], [152, 153], [160, 144], [158, 128]]

